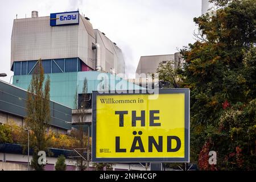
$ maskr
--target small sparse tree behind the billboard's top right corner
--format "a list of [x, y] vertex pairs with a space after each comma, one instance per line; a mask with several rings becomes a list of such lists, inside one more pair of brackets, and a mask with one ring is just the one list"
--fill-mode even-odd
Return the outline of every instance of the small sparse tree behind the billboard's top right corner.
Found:
[[156, 69], [156, 73], [158, 73], [159, 81], [164, 83], [164, 88], [179, 88], [181, 75], [179, 72], [181, 71], [180, 60], [177, 63], [177, 67], [175, 68], [174, 61], [167, 61], [167, 63], [159, 63], [158, 69]]

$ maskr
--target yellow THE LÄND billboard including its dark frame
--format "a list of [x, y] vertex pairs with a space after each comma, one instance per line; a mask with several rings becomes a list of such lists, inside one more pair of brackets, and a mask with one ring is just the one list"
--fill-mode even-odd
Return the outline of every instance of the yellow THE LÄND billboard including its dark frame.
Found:
[[189, 89], [149, 96], [93, 92], [93, 162], [189, 162]]

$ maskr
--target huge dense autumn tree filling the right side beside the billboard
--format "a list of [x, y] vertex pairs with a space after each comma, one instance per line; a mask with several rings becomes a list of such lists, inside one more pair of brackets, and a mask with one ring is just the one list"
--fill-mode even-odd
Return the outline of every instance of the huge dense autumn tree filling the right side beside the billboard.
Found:
[[[213, 0], [194, 18], [202, 39], [181, 50], [191, 89], [191, 158], [201, 169], [255, 170], [256, 1]], [[217, 166], [205, 160], [217, 152]]]

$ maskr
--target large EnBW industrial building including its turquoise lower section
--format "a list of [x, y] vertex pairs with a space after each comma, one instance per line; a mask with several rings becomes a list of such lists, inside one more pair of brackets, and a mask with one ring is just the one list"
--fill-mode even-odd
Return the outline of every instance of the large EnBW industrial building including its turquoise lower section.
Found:
[[[69, 16], [73, 19], [65, 20]], [[79, 11], [43, 17], [32, 11], [31, 18], [14, 19], [11, 36], [13, 84], [27, 89], [39, 59], [42, 59], [44, 73], [50, 77], [51, 100], [72, 109], [77, 109], [82, 98], [90, 99], [92, 90], [98, 89], [100, 73], [106, 73], [108, 82], [114, 80], [115, 83], [122, 80], [115, 74], [125, 73], [121, 49], [103, 32], [93, 29], [89, 18]], [[86, 93], [82, 90], [85, 80]], [[124, 90], [139, 88], [130, 82], [125, 85]], [[115, 89], [115, 84], [108, 89]]]

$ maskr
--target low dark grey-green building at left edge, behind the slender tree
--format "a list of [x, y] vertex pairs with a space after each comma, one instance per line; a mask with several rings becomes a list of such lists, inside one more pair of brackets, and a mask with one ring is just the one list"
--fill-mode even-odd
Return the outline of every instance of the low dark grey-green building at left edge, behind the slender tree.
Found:
[[[0, 80], [0, 125], [14, 122], [24, 127], [27, 91]], [[72, 109], [56, 102], [50, 101], [49, 126], [56, 133], [67, 134], [71, 130]]]

